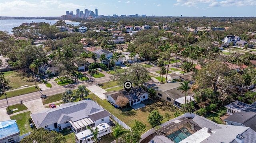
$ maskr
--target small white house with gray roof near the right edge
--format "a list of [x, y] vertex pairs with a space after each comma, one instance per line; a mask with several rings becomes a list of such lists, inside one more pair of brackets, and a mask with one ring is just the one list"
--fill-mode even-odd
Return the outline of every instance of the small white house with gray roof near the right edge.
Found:
[[230, 104], [228, 104], [227, 106], [225, 106], [227, 108], [227, 114], [229, 115], [233, 115], [236, 112], [241, 112], [242, 110], [245, 110], [246, 108], [248, 108], [250, 105], [241, 102], [241, 101], [234, 101]]

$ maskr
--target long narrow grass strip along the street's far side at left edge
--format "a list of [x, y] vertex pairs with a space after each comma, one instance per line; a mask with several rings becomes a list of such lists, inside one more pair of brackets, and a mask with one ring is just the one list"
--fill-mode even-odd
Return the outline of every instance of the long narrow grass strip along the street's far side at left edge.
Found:
[[[38, 86], [37, 86], [37, 88], [39, 89]], [[36, 92], [36, 91], [38, 91], [38, 89], [36, 89], [35, 86], [32, 86], [32, 87], [28, 87], [28, 88], [23, 88], [23, 89], [19, 89], [19, 90], [6, 92], [6, 96], [7, 96], [7, 98], [10, 98], [10, 97], [19, 96], [22, 94]], [[0, 96], [0, 100], [1, 99], [5, 99], [5, 96], [4, 95]]]

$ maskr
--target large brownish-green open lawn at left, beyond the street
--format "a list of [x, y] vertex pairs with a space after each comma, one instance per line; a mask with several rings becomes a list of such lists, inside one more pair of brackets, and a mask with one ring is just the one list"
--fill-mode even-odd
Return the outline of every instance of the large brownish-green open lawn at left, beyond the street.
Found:
[[28, 73], [22, 75], [20, 72], [17, 71], [2, 72], [2, 74], [4, 74], [4, 78], [9, 80], [9, 86], [11, 87], [11, 89], [20, 88], [24, 85], [34, 85], [34, 76], [32, 72], [29, 75]]

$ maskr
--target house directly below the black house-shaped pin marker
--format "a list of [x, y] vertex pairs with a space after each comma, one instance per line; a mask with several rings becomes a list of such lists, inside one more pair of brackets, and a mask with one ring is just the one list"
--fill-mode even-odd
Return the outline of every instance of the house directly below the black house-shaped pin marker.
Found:
[[112, 104], [115, 104], [120, 97], [127, 98], [129, 100], [130, 106], [148, 99], [148, 92], [146, 92], [140, 86], [133, 87], [129, 93], [122, 89], [118, 91], [105, 92], [104, 94], [106, 95], [106, 100]]

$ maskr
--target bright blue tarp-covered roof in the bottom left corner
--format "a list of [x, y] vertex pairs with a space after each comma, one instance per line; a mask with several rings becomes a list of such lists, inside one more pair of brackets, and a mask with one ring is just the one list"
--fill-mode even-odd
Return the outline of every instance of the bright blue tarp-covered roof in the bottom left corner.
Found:
[[16, 120], [0, 121], [0, 136], [2, 135], [3, 138], [19, 132]]

